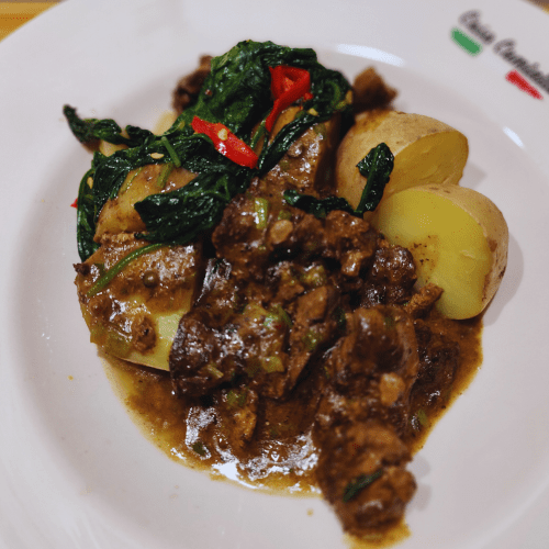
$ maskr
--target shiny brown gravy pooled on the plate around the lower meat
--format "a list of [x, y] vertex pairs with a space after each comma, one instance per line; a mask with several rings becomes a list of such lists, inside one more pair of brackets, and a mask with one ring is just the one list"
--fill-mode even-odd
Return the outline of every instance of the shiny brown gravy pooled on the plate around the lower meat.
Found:
[[[461, 361], [451, 392], [433, 405], [425, 405], [425, 394], [414, 399], [421, 406], [408, 444], [417, 452], [444, 412], [467, 389], [482, 362], [482, 316], [451, 323], [451, 336], [459, 341]], [[138, 367], [100, 355], [111, 385], [142, 434], [172, 460], [208, 472], [212, 479], [236, 482], [270, 493], [318, 496], [314, 468], [317, 452], [310, 425], [314, 405], [304, 399], [314, 393], [311, 374], [285, 403], [274, 403], [258, 418], [254, 440], [246, 448], [232, 447], [224, 437], [226, 425], [216, 424], [208, 402], [190, 403], [172, 394], [168, 372]], [[419, 421], [417, 417], [419, 416]], [[300, 419], [296, 419], [300, 418]], [[410, 536], [404, 522], [386, 533], [373, 531], [365, 539], [345, 536], [354, 548], [390, 547]]]

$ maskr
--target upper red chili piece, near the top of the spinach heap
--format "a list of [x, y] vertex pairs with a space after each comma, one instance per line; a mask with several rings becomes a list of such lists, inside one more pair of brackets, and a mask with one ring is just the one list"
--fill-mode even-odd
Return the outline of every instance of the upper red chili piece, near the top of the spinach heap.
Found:
[[289, 67], [288, 65], [278, 65], [269, 67], [271, 72], [271, 92], [274, 98], [272, 111], [265, 121], [265, 127], [268, 132], [272, 130], [279, 114], [288, 109], [298, 99], [305, 101], [312, 99], [311, 75], [309, 70], [299, 67]]

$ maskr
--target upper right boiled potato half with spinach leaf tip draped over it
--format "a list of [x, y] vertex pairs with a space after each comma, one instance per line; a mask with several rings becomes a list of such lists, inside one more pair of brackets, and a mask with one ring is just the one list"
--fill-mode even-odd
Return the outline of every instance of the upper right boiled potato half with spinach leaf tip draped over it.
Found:
[[383, 200], [408, 187], [458, 184], [469, 154], [467, 137], [438, 120], [397, 111], [367, 111], [357, 116], [337, 153], [337, 194], [352, 208], [357, 208], [366, 184], [357, 164], [380, 143], [394, 155]]

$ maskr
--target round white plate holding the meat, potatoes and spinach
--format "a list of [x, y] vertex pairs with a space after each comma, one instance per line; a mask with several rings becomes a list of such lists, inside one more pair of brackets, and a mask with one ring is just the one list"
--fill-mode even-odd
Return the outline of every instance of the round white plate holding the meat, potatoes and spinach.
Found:
[[[451, 37], [474, 37], [467, 9], [495, 35], [475, 56]], [[150, 125], [200, 54], [249, 37], [316, 47], [350, 78], [373, 63], [400, 109], [469, 137], [462, 184], [504, 212], [509, 265], [485, 316], [484, 365], [412, 467], [419, 488], [400, 547], [547, 547], [548, 33], [544, 12], [511, 0], [70, 0], [2, 42], [0, 546], [345, 547], [322, 500], [213, 482], [146, 441], [88, 343], [72, 284], [69, 205], [89, 156], [63, 104]], [[545, 89], [529, 80], [541, 99], [505, 79], [505, 38], [546, 76]]]

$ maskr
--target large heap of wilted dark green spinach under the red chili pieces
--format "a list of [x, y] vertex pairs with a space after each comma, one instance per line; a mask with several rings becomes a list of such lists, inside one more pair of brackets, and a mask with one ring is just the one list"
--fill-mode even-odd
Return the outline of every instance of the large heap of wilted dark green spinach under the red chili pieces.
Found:
[[[287, 124], [272, 143], [266, 145], [256, 169], [237, 166], [217, 153], [212, 142], [191, 127], [197, 115], [221, 122], [247, 144], [253, 130], [272, 109], [269, 67], [291, 65], [310, 71], [313, 99], [303, 104], [295, 120]], [[348, 81], [337, 71], [323, 67], [313, 49], [278, 46], [272, 42], [240, 42], [226, 54], [212, 59], [195, 103], [188, 108], [161, 136], [136, 126], [125, 132], [112, 120], [80, 119], [66, 105], [64, 113], [75, 136], [82, 143], [98, 139], [128, 148], [111, 156], [97, 152], [78, 195], [78, 251], [86, 260], [96, 249], [93, 234], [99, 213], [116, 197], [128, 172], [147, 164], [173, 161], [197, 172], [184, 188], [153, 194], [135, 204], [149, 242], [184, 244], [221, 220], [231, 199], [243, 192], [255, 176], [269, 171], [292, 143], [313, 124], [325, 122], [336, 112], [344, 127], [351, 120]], [[155, 157], [150, 155], [158, 153]], [[159, 155], [164, 155], [158, 158]], [[90, 179], [91, 178], [91, 179]], [[92, 181], [92, 186], [88, 184]]]

